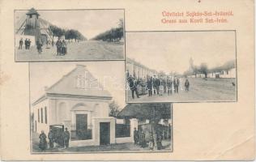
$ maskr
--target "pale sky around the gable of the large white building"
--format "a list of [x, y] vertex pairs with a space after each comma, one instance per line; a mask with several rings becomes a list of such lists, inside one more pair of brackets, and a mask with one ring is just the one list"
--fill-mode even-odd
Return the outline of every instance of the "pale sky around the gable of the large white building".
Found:
[[[32, 62], [30, 64], [31, 103], [45, 94], [45, 87], [56, 83], [63, 75], [75, 69], [76, 65], [85, 65], [87, 70], [105, 85], [120, 108], [126, 105], [125, 64], [124, 62]], [[118, 67], [118, 68], [116, 68]], [[104, 82], [105, 80], [105, 82]]]

